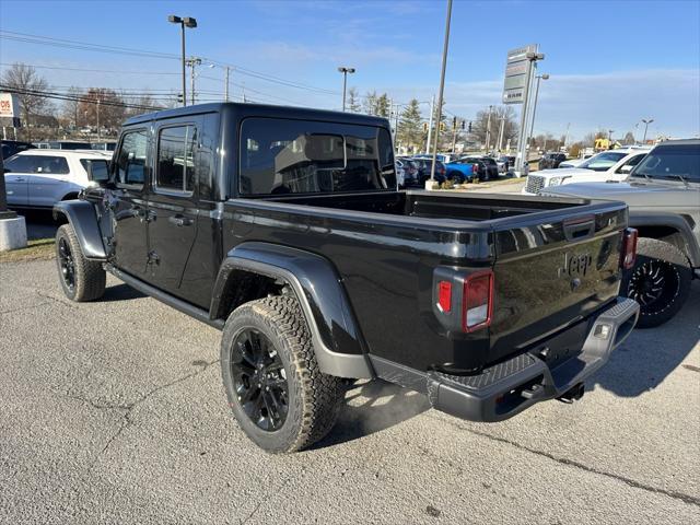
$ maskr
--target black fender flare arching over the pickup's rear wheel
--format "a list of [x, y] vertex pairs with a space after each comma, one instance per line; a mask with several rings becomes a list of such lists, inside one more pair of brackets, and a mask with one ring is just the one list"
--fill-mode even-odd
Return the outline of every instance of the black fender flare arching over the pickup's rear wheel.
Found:
[[324, 257], [269, 243], [243, 243], [221, 265], [210, 316], [225, 315], [222, 293], [235, 270], [246, 270], [292, 287], [308, 324], [320, 371], [338, 377], [375, 376], [349, 299], [335, 268]]

